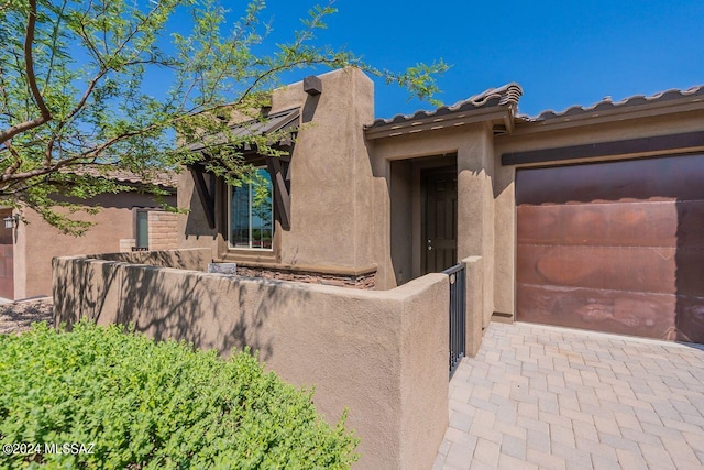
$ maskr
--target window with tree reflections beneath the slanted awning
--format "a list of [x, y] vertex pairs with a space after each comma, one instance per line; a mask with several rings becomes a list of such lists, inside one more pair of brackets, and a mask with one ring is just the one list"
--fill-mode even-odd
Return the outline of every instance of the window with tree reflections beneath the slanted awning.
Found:
[[266, 168], [255, 168], [242, 186], [230, 187], [230, 248], [272, 250], [274, 205], [272, 178]]

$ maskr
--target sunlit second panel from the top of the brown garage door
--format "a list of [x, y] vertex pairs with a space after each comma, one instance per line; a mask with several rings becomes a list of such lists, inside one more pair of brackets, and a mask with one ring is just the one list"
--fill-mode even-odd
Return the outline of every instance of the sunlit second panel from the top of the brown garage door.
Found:
[[[688, 220], [704, 217], [704, 204], [688, 211]], [[674, 201], [525, 205], [518, 208], [517, 237], [527, 244], [676, 247], [678, 219]], [[690, 231], [704, 240], [701, 230]]]

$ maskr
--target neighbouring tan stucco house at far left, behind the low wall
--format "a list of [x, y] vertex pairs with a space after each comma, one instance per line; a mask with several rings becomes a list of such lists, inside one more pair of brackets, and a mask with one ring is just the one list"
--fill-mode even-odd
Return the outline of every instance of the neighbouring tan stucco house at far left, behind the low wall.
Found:
[[[143, 185], [143, 178], [127, 172], [111, 177], [135, 189]], [[16, 210], [0, 208], [0, 297], [18, 300], [52, 295], [54, 256], [178, 248], [177, 216], [162, 209], [162, 204], [176, 205], [175, 177], [160, 175], [154, 184], [169, 195], [157, 201], [135, 190], [81, 201], [101, 210], [95, 216], [84, 215], [95, 226], [80, 237], [63, 234], [29, 208], [21, 217]]]

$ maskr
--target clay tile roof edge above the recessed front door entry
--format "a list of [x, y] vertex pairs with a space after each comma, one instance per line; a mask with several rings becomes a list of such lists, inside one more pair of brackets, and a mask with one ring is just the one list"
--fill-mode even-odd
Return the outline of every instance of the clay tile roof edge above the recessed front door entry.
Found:
[[441, 118], [446, 114], [454, 114], [493, 107], [515, 107], [522, 94], [524, 90], [518, 84], [510, 83], [499, 88], [490, 88], [484, 92], [475, 95], [463, 101], [455, 102], [452, 106], [441, 106], [433, 111], [419, 110], [413, 114], [396, 114], [391, 119], [376, 119], [373, 123], [365, 125], [365, 129], [418, 121], [427, 118]]

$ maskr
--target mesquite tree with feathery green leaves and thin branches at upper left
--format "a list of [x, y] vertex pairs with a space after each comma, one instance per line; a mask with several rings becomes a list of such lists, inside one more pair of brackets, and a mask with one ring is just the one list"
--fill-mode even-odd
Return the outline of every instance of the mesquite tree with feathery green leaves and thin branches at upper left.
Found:
[[209, 170], [231, 181], [248, 173], [243, 144], [276, 154], [271, 136], [233, 135], [229, 124], [258, 117], [282, 73], [353, 65], [430, 98], [447, 68], [391, 73], [316, 45], [332, 3], [267, 46], [264, 9], [252, 0], [232, 22], [217, 0], [0, 0], [0, 206], [80, 233], [89, 223], [70, 216], [80, 199], [132, 189], [109, 177], [116, 171], [148, 181], [191, 162], [185, 144], [215, 134]]

